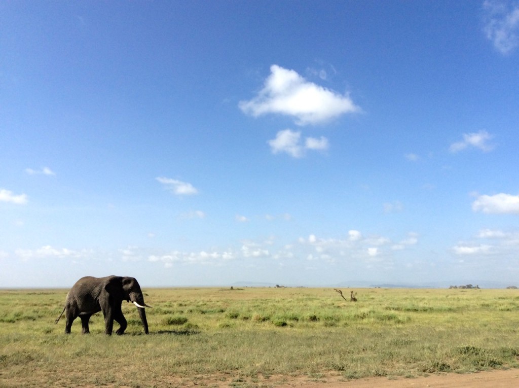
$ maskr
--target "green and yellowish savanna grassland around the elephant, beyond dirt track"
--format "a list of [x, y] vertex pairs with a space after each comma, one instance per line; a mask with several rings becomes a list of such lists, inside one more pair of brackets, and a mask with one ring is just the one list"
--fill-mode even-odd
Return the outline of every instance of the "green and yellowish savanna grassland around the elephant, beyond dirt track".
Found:
[[[343, 289], [349, 297], [347, 289]], [[124, 336], [101, 313], [64, 334], [67, 290], [0, 290], [0, 386], [269, 386], [519, 368], [519, 290], [144, 289], [149, 335], [123, 302]], [[114, 324], [114, 329], [118, 324]]]

